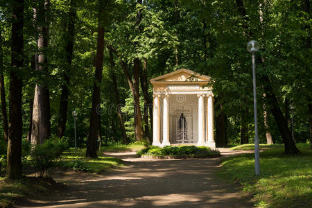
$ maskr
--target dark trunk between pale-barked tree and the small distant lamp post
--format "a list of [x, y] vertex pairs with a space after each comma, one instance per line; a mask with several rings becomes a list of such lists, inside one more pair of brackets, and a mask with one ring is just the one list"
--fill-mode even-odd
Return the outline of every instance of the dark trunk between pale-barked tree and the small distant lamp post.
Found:
[[71, 60], [73, 59], [73, 41], [75, 34], [75, 20], [76, 20], [76, 5], [75, 0], [71, 0], [71, 5], [69, 8], [69, 17], [67, 23], [67, 43], [65, 57], [67, 66], [64, 69], [63, 77], [64, 84], [62, 85], [62, 95], [60, 98], [60, 111], [58, 117], [58, 130], [56, 132], [59, 138], [64, 136], [66, 121], [67, 121], [67, 107], [68, 107], [68, 96], [69, 96], [69, 76], [71, 71]]

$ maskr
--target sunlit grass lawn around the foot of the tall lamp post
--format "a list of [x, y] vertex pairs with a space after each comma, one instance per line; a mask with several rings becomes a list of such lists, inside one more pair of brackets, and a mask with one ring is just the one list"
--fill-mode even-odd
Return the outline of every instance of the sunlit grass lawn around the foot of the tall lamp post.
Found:
[[[254, 175], [254, 154], [223, 158], [221, 177], [243, 185], [257, 207], [312, 207], [312, 149], [297, 144], [299, 155], [284, 155], [284, 145], [264, 145], [260, 175]], [[252, 149], [253, 145], [234, 149]]]

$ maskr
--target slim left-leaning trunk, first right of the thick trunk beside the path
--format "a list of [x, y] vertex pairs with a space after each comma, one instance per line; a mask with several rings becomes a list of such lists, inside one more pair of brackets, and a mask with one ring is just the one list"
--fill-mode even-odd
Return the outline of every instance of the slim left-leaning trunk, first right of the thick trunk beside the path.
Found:
[[114, 72], [114, 57], [112, 53], [112, 49], [110, 49], [110, 67], [112, 71], [112, 83], [114, 87], [114, 92], [115, 92], [115, 98], [116, 98], [116, 110], [119, 118], [119, 125], [121, 129], [121, 136], [123, 137], [123, 143], [124, 144], [129, 144], [127, 134], [125, 133], [125, 125], [123, 123], [123, 115], [121, 114], [121, 103], [119, 100], [119, 91], [117, 87], [117, 80], [116, 80], [116, 75]]

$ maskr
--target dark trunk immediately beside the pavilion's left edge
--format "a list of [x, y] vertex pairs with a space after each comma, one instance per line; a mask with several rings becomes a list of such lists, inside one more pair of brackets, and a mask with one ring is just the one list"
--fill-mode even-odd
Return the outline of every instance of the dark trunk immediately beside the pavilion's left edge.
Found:
[[[142, 69], [142, 68], [141, 68]], [[143, 70], [140, 73], [140, 83], [141, 89], [144, 96], [144, 136], [149, 143], [152, 143], [152, 137], [150, 135], [149, 125], [148, 125], [148, 111], [150, 112], [150, 121], [153, 120], [153, 101], [148, 94], [148, 81], [147, 81], [147, 60], [144, 58]], [[153, 125], [152, 125], [153, 126]]]

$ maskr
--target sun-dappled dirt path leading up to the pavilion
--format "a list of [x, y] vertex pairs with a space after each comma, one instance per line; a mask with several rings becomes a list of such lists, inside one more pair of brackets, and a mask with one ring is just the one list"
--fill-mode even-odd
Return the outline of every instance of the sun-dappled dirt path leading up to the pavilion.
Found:
[[[223, 155], [241, 153], [221, 149]], [[69, 187], [19, 207], [252, 207], [239, 187], [216, 177], [220, 159], [141, 159], [134, 153], [107, 153], [128, 161], [105, 175], [54, 175]]]

